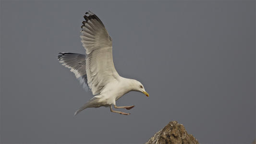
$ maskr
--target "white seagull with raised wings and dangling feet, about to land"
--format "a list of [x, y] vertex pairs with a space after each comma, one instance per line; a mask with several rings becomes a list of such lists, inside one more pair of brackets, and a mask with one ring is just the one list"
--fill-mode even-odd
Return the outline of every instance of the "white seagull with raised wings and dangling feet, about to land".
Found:
[[74, 115], [85, 108], [109, 107], [111, 112], [129, 115], [114, 108], [131, 109], [133, 106], [116, 106], [116, 100], [130, 91], [137, 91], [149, 96], [144, 86], [134, 79], [120, 76], [115, 69], [112, 56], [112, 39], [104, 24], [93, 12], [85, 12], [82, 22], [81, 42], [84, 54], [63, 53], [58, 56], [59, 62], [70, 69], [83, 88], [91, 90], [94, 95]]

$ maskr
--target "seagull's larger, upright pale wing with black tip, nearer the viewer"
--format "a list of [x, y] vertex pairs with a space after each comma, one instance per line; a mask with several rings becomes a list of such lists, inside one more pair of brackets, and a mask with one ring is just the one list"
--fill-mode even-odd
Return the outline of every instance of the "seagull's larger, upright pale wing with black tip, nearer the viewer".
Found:
[[112, 57], [112, 40], [104, 24], [92, 12], [85, 13], [82, 22], [81, 42], [86, 51], [87, 83], [93, 95], [119, 78]]

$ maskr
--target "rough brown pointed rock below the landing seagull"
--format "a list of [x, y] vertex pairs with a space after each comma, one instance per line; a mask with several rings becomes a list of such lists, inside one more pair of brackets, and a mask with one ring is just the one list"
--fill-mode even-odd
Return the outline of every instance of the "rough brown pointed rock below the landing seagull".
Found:
[[192, 134], [188, 134], [183, 124], [169, 122], [145, 144], [199, 144]]

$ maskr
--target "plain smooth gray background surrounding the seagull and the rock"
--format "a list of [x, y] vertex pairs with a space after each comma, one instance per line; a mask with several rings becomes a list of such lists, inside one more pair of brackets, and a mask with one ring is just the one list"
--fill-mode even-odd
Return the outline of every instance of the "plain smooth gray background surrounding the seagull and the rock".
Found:
[[[255, 139], [255, 1], [1, 1], [1, 143], [142, 144], [169, 121], [202, 144]], [[121, 76], [144, 84], [117, 105], [88, 108], [92, 94], [58, 52], [85, 53], [91, 10], [113, 39]], [[123, 110], [122, 111], [128, 111]]]

